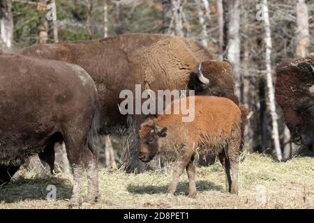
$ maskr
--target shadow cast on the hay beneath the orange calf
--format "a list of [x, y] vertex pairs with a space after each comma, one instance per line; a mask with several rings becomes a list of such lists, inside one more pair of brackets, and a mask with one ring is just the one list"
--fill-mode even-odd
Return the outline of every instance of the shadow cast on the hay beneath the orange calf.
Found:
[[[196, 182], [197, 191], [219, 190], [225, 191], [225, 188], [220, 185], [215, 185], [207, 180], [200, 180]], [[130, 184], [127, 187], [128, 192], [133, 194], [165, 194], [168, 185], [155, 186], [155, 185], [134, 185]], [[177, 194], [188, 194], [188, 182], [179, 182], [177, 187]]]

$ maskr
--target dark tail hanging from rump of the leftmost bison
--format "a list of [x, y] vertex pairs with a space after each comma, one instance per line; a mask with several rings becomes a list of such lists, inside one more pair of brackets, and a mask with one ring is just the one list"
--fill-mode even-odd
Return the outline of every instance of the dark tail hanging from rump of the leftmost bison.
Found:
[[100, 149], [100, 138], [98, 134], [99, 126], [99, 111], [97, 109], [94, 118], [91, 121], [91, 128], [89, 128], [89, 135], [87, 138], [89, 149], [96, 156], [98, 156], [98, 151]]

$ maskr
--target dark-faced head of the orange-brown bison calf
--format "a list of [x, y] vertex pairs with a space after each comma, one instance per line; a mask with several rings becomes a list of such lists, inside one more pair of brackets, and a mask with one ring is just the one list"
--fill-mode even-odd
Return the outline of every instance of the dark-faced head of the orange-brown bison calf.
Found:
[[167, 128], [158, 125], [142, 125], [139, 135], [140, 153], [138, 158], [142, 162], [149, 162], [158, 153], [159, 138], [167, 136]]

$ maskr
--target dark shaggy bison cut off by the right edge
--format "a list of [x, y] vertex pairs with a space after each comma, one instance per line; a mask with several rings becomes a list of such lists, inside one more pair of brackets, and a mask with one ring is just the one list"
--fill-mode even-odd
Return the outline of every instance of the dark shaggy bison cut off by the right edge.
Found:
[[276, 68], [276, 100], [283, 109], [292, 140], [314, 143], [314, 56], [281, 63]]

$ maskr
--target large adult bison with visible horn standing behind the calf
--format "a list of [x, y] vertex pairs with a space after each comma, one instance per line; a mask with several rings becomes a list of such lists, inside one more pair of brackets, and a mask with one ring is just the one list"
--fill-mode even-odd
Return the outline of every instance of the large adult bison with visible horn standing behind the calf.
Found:
[[[146, 116], [122, 116], [117, 106], [122, 90], [135, 91], [135, 84], [153, 91], [193, 89], [197, 95], [230, 98], [236, 104], [232, 66], [213, 60], [195, 40], [161, 34], [130, 34], [86, 42], [33, 45], [21, 54], [55, 59], [82, 66], [94, 79], [99, 94], [100, 125], [108, 132], [116, 125], [128, 125], [123, 160], [127, 171], [142, 171], [138, 161], [137, 132]], [[197, 71], [202, 59], [202, 72]]]

